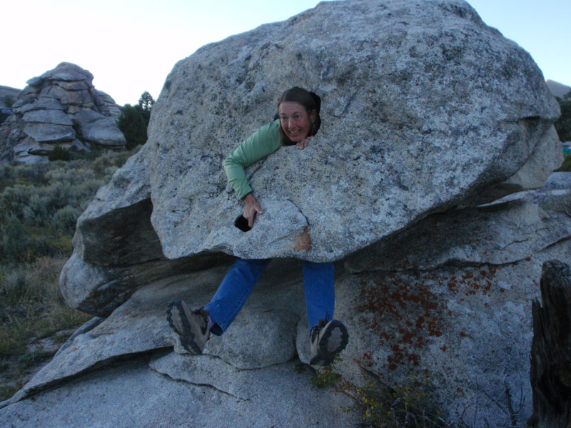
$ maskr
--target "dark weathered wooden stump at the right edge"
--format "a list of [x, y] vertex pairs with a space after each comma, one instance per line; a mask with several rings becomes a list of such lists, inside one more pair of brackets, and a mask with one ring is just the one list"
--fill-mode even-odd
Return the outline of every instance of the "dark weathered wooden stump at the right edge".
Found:
[[532, 427], [571, 427], [571, 267], [543, 264], [541, 300], [533, 302], [530, 379]]

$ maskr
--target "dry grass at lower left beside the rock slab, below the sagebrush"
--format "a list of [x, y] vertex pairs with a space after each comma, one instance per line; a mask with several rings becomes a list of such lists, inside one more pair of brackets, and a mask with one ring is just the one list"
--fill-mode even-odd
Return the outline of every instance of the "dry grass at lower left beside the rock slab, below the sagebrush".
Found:
[[0, 400], [11, 397], [90, 318], [61, 297], [64, 263], [64, 258], [40, 258], [0, 271]]

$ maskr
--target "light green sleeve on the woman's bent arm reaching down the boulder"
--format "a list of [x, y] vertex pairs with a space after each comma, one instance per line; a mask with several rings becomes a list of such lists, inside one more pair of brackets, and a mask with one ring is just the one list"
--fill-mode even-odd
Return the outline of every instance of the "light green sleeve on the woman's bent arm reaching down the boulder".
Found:
[[228, 183], [236, 191], [238, 198], [243, 199], [252, 188], [246, 178], [245, 168], [277, 151], [281, 147], [280, 121], [276, 120], [262, 126], [246, 138], [223, 162]]

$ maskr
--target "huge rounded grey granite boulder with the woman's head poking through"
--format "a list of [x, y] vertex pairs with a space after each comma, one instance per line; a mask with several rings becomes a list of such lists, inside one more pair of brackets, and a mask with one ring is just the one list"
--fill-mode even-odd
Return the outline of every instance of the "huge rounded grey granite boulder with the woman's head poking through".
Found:
[[[322, 97], [322, 130], [248, 170], [266, 214], [243, 233], [221, 160], [294, 85]], [[559, 113], [529, 54], [464, 2], [320, 4], [176, 65], [148, 133], [151, 222], [167, 258], [338, 260], [429, 213], [541, 187], [562, 160]]]

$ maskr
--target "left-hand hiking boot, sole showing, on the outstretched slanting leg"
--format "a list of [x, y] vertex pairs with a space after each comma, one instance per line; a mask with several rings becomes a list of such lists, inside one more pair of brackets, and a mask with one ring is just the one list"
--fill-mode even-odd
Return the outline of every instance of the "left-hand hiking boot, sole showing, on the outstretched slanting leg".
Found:
[[203, 307], [194, 311], [189, 310], [183, 300], [171, 302], [166, 310], [168, 325], [178, 335], [181, 346], [193, 355], [202, 354], [210, 338], [208, 315], [208, 311]]

